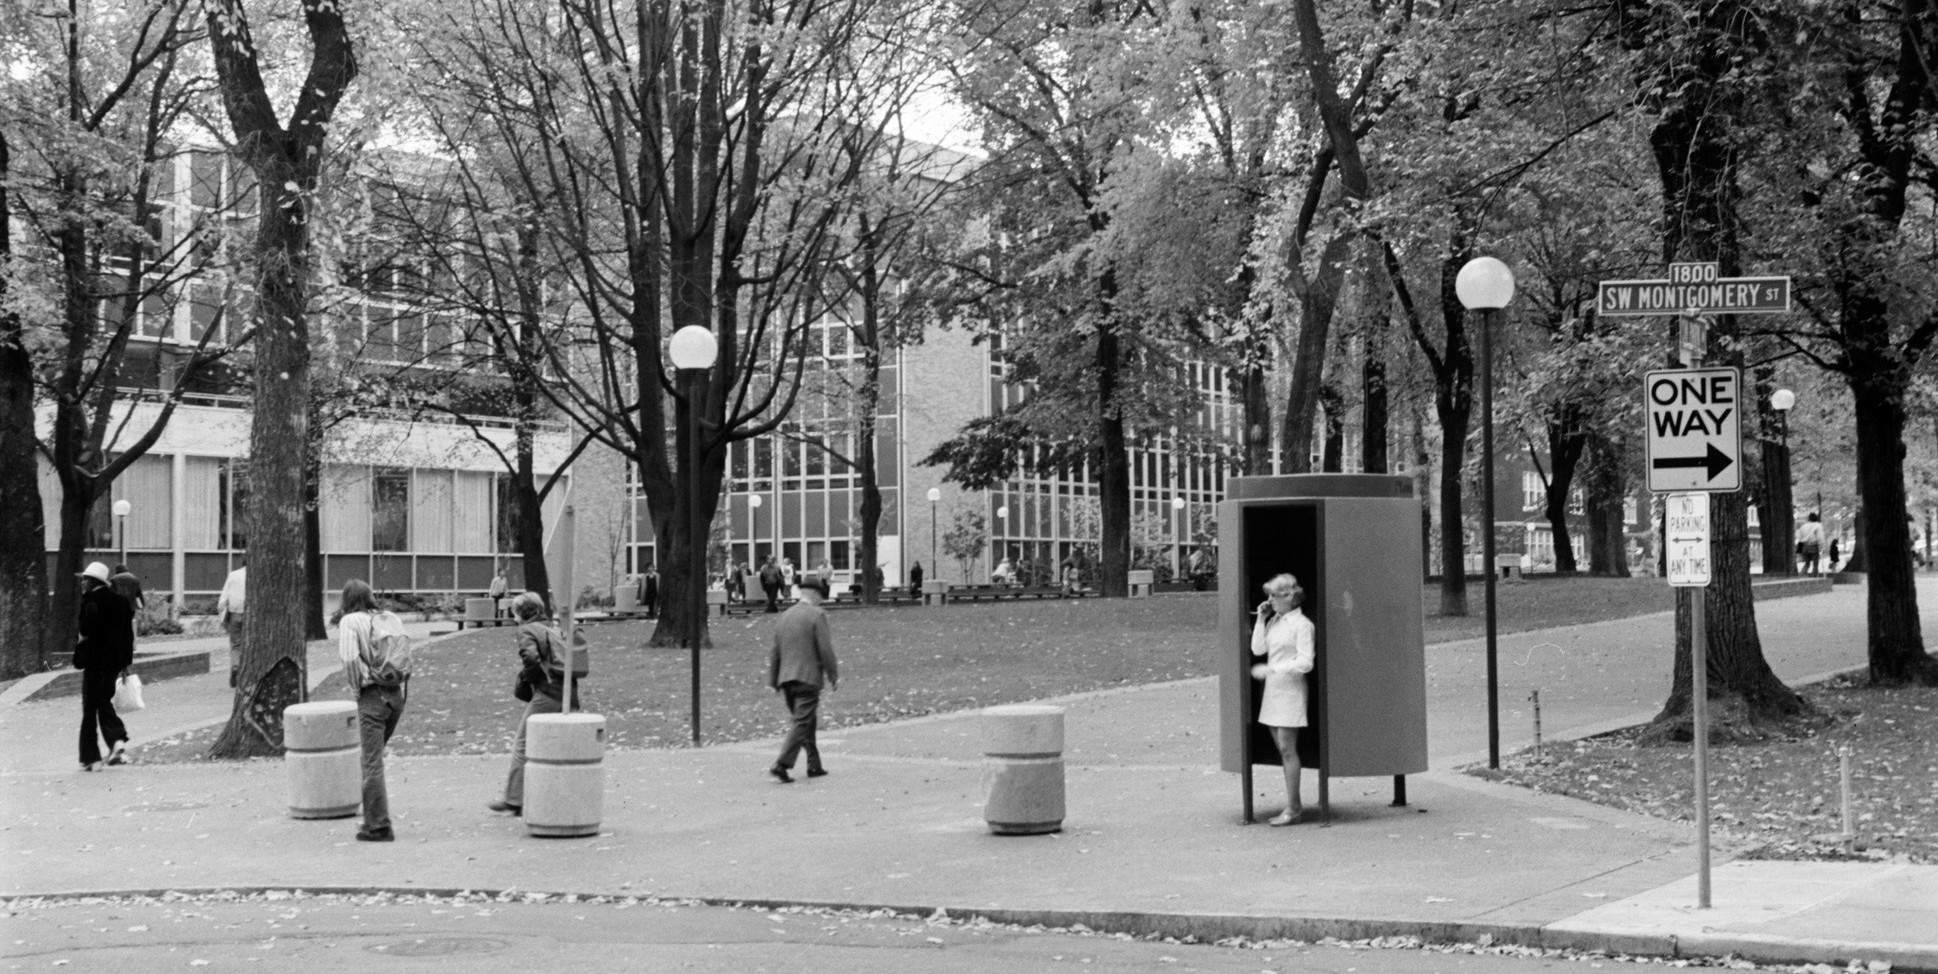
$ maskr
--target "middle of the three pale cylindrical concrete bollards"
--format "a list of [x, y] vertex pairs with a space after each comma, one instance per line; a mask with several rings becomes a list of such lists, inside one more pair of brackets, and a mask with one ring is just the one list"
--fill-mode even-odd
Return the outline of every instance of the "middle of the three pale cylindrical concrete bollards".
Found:
[[605, 811], [605, 716], [525, 720], [525, 829], [543, 837], [599, 835]]

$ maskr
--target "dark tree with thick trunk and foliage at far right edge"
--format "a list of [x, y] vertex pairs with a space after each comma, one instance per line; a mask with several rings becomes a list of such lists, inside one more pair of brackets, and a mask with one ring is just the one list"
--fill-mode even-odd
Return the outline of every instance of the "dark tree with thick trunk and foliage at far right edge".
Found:
[[1932, 258], [1919, 211], [1938, 132], [1938, 8], [1847, 4], [1802, 17], [1802, 35], [1822, 43], [1797, 52], [1810, 68], [1798, 91], [1820, 114], [1785, 116], [1783, 149], [1808, 147], [1824, 163], [1785, 182], [1826, 292], [1806, 300], [1812, 325], [1789, 341], [1851, 389], [1870, 680], [1932, 685], [1938, 658], [1924, 649], [1905, 521], [1905, 426], [1913, 380], [1938, 339], [1938, 292], [1903, 267]]

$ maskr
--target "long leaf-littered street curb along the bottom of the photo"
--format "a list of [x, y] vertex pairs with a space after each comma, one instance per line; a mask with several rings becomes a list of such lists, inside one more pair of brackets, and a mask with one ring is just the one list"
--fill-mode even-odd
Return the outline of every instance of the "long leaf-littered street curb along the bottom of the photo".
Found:
[[[1736, 957], [1758, 964], [1841, 964], [1847, 960], [1886, 960], [1901, 974], [1938, 974], [1938, 949], [1907, 943], [1839, 943], [1818, 939], [1789, 939], [1756, 933], [1705, 933], [1678, 937], [1674, 933], [1614, 933], [1597, 929], [1564, 929], [1556, 926], [1525, 924], [1483, 924], [1450, 920], [1372, 920], [1372, 918], [1324, 918], [1324, 916], [1246, 916], [1246, 914], [1155, 914], [1124, 910], [1004, 910], [983, 906], [917, 906], [897, 902], [837, 902], [837, 900], [787, 900], [787, 898], [748, 898], [748, 897], [680, 897], [669, 893], [593, 893], [593, 891], [539, 891], [539, 889], [479, 889], [479, 887], [376, 887], [353, 885], [331, 887], [316, 883], [295, 885], [246, 885], [246, 887], [165, 887], [165, 889], [95, 889], [68, 893], [0, 893], [0, 900], [85, 900], [103, 897], [209, 897], [209, 895], [339, 895], [339, 897], [531, 897], [548, 900], [578, 898], [640, 898], [653, 902], [678, 902], [700, 906], [752, 908], [752, 910], [841, 910], [841, 912], [890, 912], [911, 920], [986, 920], [990, 924], [1019, 928], [1052, 928], [1093, 933], [1122, 933], [1138, 939], [1178, 939], [1186, 943], [1215, 945], [1229, 939], [1293, 939], [1318, 943], [1337, 941], [1378, 941], [1409, 939], [1434, 945], [1475, 945], [1475, 947], [1531, 947], [1545, 951], [1579, 951], [1593, 955], [1634, 955], [1665, 957], [1678, 960]], [[1384, 947], [1405, 947], [1403, 943]]]

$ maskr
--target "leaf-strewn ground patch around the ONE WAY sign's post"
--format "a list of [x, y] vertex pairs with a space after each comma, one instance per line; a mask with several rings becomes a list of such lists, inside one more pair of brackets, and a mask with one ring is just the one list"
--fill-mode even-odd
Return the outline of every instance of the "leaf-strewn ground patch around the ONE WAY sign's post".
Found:
[[[1802, 687], [1831, 726], [1798, 738], [1709, 747], [1711, 827], [1756, 846], [1750, 858], [1938, 862], [1938, 687]], [[1661, 819], [1696, 819], [1688, 746], [1638, 747], [1622, 730], [1504, 755], [1473, 775]], [[1851, 848], [1841, 827], [1837, 747], [1851, 747]]]

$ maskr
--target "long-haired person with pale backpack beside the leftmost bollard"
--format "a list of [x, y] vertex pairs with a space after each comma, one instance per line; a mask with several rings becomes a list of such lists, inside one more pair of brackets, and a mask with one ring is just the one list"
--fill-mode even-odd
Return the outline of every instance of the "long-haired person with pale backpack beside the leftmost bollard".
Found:
[[384, 790], [384, 746], [397, 732], [411, 685], [411, 633], [403, 620], [376, 604], [362, 579], [343, 585], [343, 622], [337, 624], [337, 656], [343, 678], [357, 693], [362, 738], [364, 821], [359, 842], [390, 842], [390, 794]]

